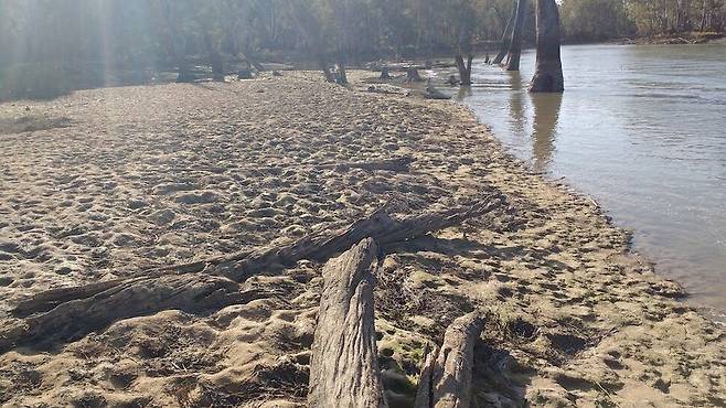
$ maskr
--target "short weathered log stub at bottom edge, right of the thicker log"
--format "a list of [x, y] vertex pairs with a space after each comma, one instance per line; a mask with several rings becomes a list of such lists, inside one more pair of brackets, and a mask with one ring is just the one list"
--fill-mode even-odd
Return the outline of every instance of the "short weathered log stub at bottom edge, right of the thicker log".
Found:
[[441, 350], [427, 356], [421, 369], [416, 408], [468, 408], [471, 405], [474, 344], [483, 325], [484, 318], [474, 311], [455, 320], [446, 330]]

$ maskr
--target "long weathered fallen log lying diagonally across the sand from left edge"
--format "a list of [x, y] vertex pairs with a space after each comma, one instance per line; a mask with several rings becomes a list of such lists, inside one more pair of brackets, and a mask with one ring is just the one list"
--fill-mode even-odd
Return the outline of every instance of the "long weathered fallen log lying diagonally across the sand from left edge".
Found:
[[[243, 251], [197, 262], [145, 270], [130, 278], [41, 292], [21, 302], [15, 318], [25, 329], [0, 329], [0, 350], [40, 340], [76, 339], [118, 319], [156, 313], [166, 309], [188, 311], [221, 308], [241, 302], [237, 282], [259, 273], [293, 266], [302, 259], [325, 261], [363, 238], [378, 245], [401, 243], [430, 232], [461, 224], [502, 206], [501, 194], [490, 194], [468, 207], [395, 217], [384, 206], [337, 232], [318, 232], [288, 245]], [[63, 329], [66, 322], [68, 328]], [[58, 329], [60, 328], [60, 329]]]

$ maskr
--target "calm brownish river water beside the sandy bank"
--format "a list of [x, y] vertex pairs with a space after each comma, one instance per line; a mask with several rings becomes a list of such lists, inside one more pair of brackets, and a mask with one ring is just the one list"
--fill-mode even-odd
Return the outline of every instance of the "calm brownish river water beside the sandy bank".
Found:
[[[726, 44], [575, 45], [563, 95], [476, 61], [455, 98], [520, 159], [595, 197], [692, 304], [726, 321]], [[455, 92], [456, 93], [456, 92]]]

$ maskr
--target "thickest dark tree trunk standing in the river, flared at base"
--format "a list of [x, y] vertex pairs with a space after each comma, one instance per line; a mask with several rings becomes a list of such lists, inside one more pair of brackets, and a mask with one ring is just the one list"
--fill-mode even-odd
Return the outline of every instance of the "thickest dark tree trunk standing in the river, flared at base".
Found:
[[530, 92], [560, 93], [564, 89], [559, 58], [559, 11], [555, 0], [537, 0], [537, 66]]

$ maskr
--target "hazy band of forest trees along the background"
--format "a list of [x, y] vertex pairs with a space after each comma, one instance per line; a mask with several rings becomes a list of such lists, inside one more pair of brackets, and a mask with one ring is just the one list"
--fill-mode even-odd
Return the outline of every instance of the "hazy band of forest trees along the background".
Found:
[[[534, 7], [523, 30], [535, 37]], [[515, 0], [0, 0], [0, 97], [147, 83], [195, 62], [378, 58], [494, 50]], [[564, 42], [723, 33], [726, 0], [563, 0]], [[218, 65], [218, 66], [215, 66]], [[191, 69], [191, 68], [190, 68]], [[110, 74], [113, 73], [113, 75]], [[111, 78], [111, 76], [114, 76]], [[61, 89], [56, 89], [61, 90]]]

